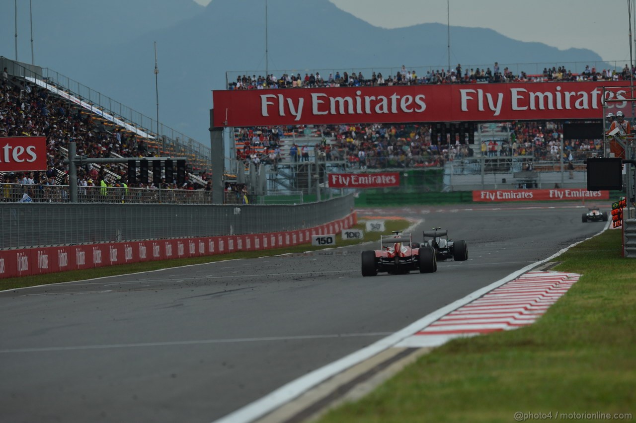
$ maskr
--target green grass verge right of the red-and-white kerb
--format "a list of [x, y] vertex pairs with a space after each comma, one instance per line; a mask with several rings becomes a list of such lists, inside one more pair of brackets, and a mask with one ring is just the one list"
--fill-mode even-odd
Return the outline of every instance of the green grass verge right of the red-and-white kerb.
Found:
[[583, 277], [536, 323], [448, 342], [319, 421], [514, 422], [515, 412], [635, 418], [636, 260], [621, 257], [621, 231], [556, 260], [555, 270]]

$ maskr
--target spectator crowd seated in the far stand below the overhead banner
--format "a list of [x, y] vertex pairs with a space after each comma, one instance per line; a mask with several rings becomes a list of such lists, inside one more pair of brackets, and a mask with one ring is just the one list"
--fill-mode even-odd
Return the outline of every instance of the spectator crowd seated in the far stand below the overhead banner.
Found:
[[[559, 122], [523, 121], [503, 124], [499, 139], [468, 142], [460, 135], [438, 136], [432, 140], [429, 124], [342, 124], [314, 128], [311, 137], [317, 142], [300, 143], [298, 135], [307, 131], [304, 126], [240, 128], [237, 130], [237, 159], [245, 163], [274, 164], [284, 160], [302, 163], [314, 160], [341, 162], [345, 168], [423, 168], [444, 166], [472, 156], [532, 157], [537, 161], [583, 160], [602, 156], [601, 138], [594, 140], [564, 140], [561, 151], [563, 125]], [[286, 141], [286, 156], [281, 145]], [[297, 144], [298, 143], [298, 144]]]

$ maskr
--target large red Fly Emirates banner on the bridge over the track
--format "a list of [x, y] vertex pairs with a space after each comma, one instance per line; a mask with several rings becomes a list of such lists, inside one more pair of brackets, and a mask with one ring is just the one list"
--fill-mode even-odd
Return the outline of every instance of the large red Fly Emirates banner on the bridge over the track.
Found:
[[[602, 119], [607, 82], [423, 84], [212, 91], [215, 128], [293, 124]], [[631, 98], [613, 81], [607, 100]], [[627, 112], [627, 102], [609, 102]], [[631, 116], [631, 114], [626, 114]]]

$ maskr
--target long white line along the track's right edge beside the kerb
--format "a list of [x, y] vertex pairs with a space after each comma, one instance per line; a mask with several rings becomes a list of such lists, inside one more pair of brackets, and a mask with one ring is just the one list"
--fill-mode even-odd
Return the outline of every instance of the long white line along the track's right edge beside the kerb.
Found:
[[[609, 227], [609, 223], [610, 222], [607, 222], [607, 224], [605, 224], [605, 227], [600, 232], [598, 232], [598, 234], [604, 232]], [[593, 236], [590, 236], [590, 238], [586, 238], [583, 241], [587, 241], [588, 239], [591, 239], [591, 238], [593, 238]], [[263, 396], [263, 398], [260, 398], [259, 400], [256, 400], [253, 403], [245, 405], [244, 407], [239, 408], [239, 410], [236, 410], [235, 412], [232, 412], [226, 415], [225, 417], [221, 417], [221, 419], [215, 420], [214, 423], [247, 423], [247, 422], [252, 422], [253, 420], [258, 419], [259, 417], [263, 417], [267, 413], [270, 413], [276, 408], [279, 408], [285, 403], [293, 400], [294, 398], [297, 398], [298, 396], [305, 393], [306, 391], [316, 386], [317, 384], [324, 382], [324, 380], [327, 380], [337, 375], [338, 373], [343, 372], [344, 370], [347, 370], [348, 368], [355, 366], [363, 362], [364, 360], [375, 356], [376, 354], [384, 351], [385, 349], [395, 346], [401, 340], [406, 339], [407, 337], [410, 337], [411, 335], [413, 335], [413, 333], [416, 333], [419, 330], [422, 330], [422, 328], [425, 328], [426, 326], [430, 325], [437, 319], [445, 316], [449, 312], [455, 309], [459, 309], [459, 307], [461, 307], [462, 305], [466, 305], [469, 302], [478, 299], [485, 293], [488, 293], [494, 290], [495, 288], [501, 285], [504, 285], [504, 283], [507, 283], [509, 281], [512, 281], [515, 278], [518, 278], [518, 276], [521, 276], [525, 272], [530, 271], [531, 269], [534, 269], [534, 267], [537, 267], [537, 265], [541, 265], [546, 262], [549, 262], [553, 258], [558, 257], [558, 255], [565, 253], [567, 250], [569, 250], [575, 245], [582, 243], [583, 241], [579, 241], [570, 246], [567, 246], [566, 248], [563, 248], [562, 250], [560, 250], [559, 252], [556, 252], [555, 254], [551, 255], [548, 258], [544, 258], [543, 260], [539, 260], [538, 262], [529, 264], [523, 267], [522, 269], [516, 272], [512, 272], [508, 276], [502, 279], [499, 279], [499, 281], [491, 283], [488, 286], [484, 286], [483, 288], [476, 290], [475, 292], [466, 295], [466, 297], [456, 300], [455, 302], [452, 302], [451, 304], [448, 304], [445, 307], [441, 307], [441, 309], [438, 309], [430, 314], [427, 314], [423, 318], [411, 323], [410, 325], [397, 331], [396, 333], [392, 333], [388, 337], [385, 337], [384, 339], [380, 339], [368, 347], [364, 347], [363, 349], [360, 349], [359, 351], [352, 352], [348, 356], [345, 356], [341, 359], [333, 361], [333, 363], [329, 363], [328, 365], [322, 366], [321, 368], [314, 370], [313, 372], [308, 373], [307, 375], [303, 377], [293, 380], [285, 384], [284, 386], [279, 387], [279, 389], [276, 389], [272, 393], [269, 393], [266, 396]], [[435, 346], [437, 345], [439, 345], [439, 343], [435, 344]]]

